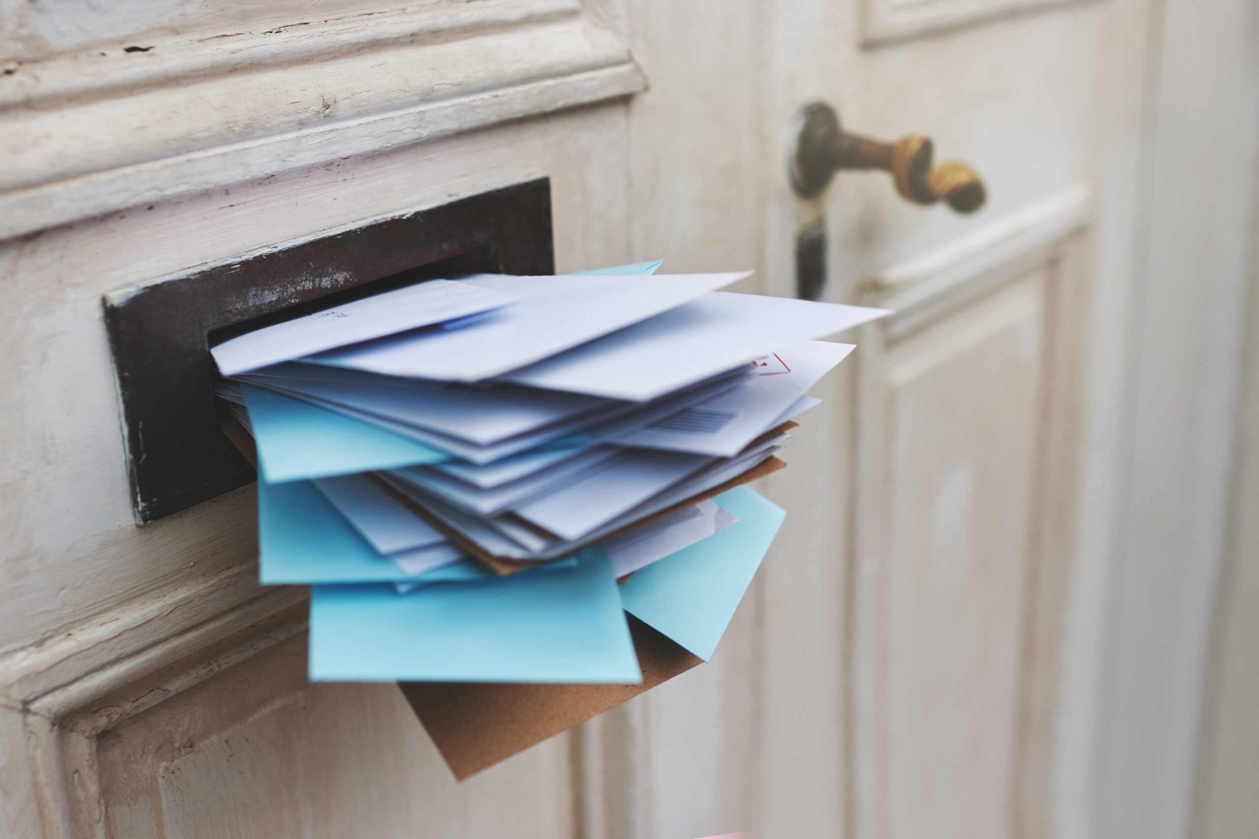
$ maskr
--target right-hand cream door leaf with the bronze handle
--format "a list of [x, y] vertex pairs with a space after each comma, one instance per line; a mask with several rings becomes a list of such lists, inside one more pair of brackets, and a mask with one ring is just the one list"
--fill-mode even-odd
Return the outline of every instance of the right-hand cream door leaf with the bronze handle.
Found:
[[[821, 217], [823, 299], [894, 314], [838, 338], [859, 372], [827, 396], [855, 422], [806, 416], [799, 437], [836, 436], [828, 459], [773, 486], [808, 513], [783, 538], [812, 551], [763, 572], [765, 833], [1084, 835], [1147, 6], [857, 4], [966, 24], [884, 38], [854, 5], [765, 15], [767, 160], [823, 100], [849, 131], [932, 136], [988, 203], [912, 205], [883, 173], [841, 171], [818, 199], [769, 180], [771, 292], [793, 294], [797, 233]], [[831, 634], [803, 631], [826, 605]]]

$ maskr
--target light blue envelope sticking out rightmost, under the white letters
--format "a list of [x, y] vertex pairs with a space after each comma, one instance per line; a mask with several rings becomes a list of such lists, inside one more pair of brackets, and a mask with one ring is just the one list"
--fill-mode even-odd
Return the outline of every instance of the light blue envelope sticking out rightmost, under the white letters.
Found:
[[787, 515], [747, 486], [714, 500], [739, 520], [635, 572], [621, 586], [627, 612], [705, 661]]

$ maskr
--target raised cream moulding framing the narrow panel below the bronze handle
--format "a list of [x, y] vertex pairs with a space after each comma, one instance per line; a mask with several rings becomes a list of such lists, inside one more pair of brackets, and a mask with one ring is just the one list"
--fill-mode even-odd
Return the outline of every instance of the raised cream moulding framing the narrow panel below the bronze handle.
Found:
[[[1045, 382], [1041, 404], [1046, 412], [1037, 430], [1037, 474], [1044, 481], [1034, 496], [1029, 545], [1030, 597], [1025, 616], [1024, 660], [1019, 683], [1010, 830], [1026, 836], [1050, 836], [1058, 821], [1058, 790], [1053, 721], [1060, 703], [1064, 644], [1063, 621], [1076, 581], [1080, 511], [1076, 501], [1081, 474], [1079, 454], [1085, 391], [1085, 341], [1079, 333], [1088, 321], [1092, 224], [1097, 199], [1087, 183], [1063, 190], [1000, 218], [973, 233], [894, 266], [862, 283], [861, 302], [894, 310], [889, 317], [861, 328], [856, 343], [856, 423], [854, 464], [859, 490], [851, 520], [850, 615], [850, 771], [847, 800], [850, 830], [857, 839], [886, 834], [884, 745], [888, 724], [880, 703], [880, 660], [885, 655], [886, 508], [884, 413], [885, 355], [910, 335], [962, 312], [976, 301], [1025, 278], [1037, 268], [1049, 276], [1046, 295]], [[1053, 394], [1050, 397], [1050, 394]], [[1058, 558], [1059, 562], [1054, 562]]]

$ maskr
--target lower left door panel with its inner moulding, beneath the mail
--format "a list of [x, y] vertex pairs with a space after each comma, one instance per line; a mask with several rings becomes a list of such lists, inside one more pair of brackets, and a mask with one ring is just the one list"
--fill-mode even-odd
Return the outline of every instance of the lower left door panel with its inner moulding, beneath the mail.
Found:
[[[303, 629], [298, 592], [271, 592], [29, 702], [45, 833], [569, 830], [563, 739], [458, 785], [392, 685], [306, 682]], [[487, 797], [501, 806], [478, 802]]]

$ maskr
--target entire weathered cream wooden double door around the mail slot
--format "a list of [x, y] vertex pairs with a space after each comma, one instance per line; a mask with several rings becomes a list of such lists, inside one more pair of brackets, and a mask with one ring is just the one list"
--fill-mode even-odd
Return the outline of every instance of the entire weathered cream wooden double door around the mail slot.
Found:
[[[50, 836], [1084, 835], [1147, 4], [0, 0], [0, 825]], [[650, 83], [650, 88], [648, 88]], [[932, 135], [961, 218], [789, 126]], [[539, 175], [559, 270], [889, 306], [714, 661], [457, 785], [306, 683], [252, 490], [132, 523], [101, 295]], [[1118, 324], [1118, 326], [1117, 326]]]

